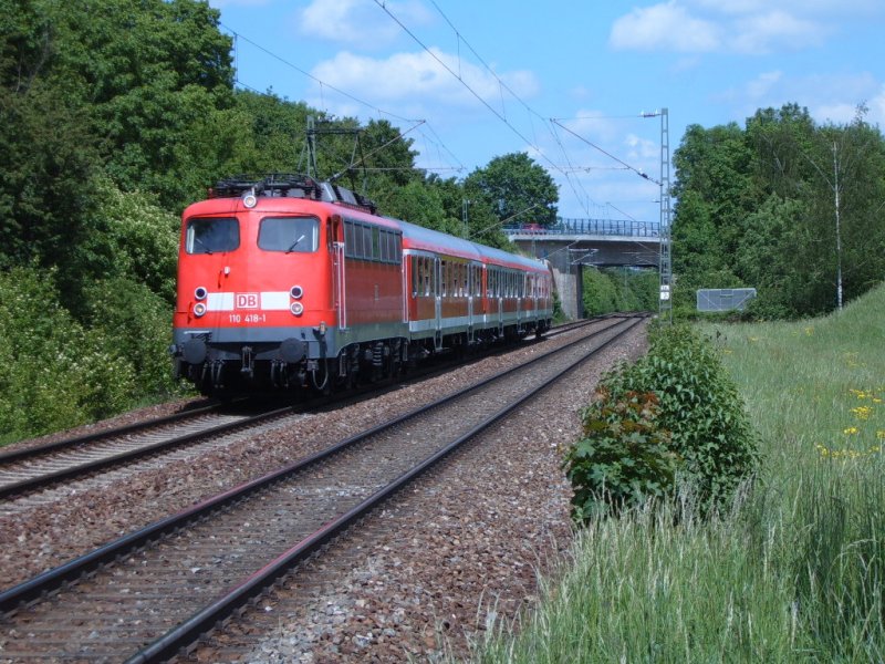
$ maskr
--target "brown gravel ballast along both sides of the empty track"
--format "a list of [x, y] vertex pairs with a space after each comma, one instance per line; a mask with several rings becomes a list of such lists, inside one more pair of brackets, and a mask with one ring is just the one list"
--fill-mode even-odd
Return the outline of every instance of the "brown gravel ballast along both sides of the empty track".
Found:
[[[542, 345], [553, 343], [559, 342]], [[600, 375], [620, 360], [641, 355], [645, 344], [643, 324], [304, 563], [258, 611], [248, 611], [231, 632], [219, 632], [195, 651], [194, 661], [466, 656], [469, 642], [481, 639], [490, 624], [531, 606], [537, 573], [570, 544], [571, 494], [561, 447], [576, 438], [577, 411]], [[69, 495], [14, 515], [0, 510], [0, 578], [4, 587], [20, 582], [537, 352], [538, 346], [522, 347], [371, 401], [306, 415], [298, 430], [266, 432], [222, 450], [136, 471], [114, 489]], [[115, 424], [121, 421], [125, 417]], [[240, 645], [243, 635], [248, 647]]]

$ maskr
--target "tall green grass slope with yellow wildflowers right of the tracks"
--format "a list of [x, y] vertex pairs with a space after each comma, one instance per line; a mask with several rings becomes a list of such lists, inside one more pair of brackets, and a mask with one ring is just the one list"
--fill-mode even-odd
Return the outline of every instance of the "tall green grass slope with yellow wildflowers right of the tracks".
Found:
[[592, 523], [477, 661], [885, 661], [883, 312], [878, 288], [824, 319], [705, 325], [761, 437], [752, 490], [711, 521], [683, 502]]

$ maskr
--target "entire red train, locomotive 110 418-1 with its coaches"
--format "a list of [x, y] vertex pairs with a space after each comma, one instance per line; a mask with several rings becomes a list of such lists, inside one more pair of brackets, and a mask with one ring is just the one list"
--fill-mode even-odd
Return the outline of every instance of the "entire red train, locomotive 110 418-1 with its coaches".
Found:
[[537, 260], [381, 217], [300, 175], [225, 180], [183, 215], [170, 349], [204, 394], [330, 392], [549, 329]]

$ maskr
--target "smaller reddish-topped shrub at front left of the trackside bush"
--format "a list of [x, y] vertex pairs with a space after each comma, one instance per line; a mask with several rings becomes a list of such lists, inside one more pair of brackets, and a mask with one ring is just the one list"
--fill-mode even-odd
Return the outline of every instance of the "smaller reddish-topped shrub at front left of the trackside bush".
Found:
[[581, 413], [584, 435], [565, 457], [575, 520], [587, 521], [600, 510], [616, 513], [670, 494], [678, 458], [669, 450], [669, 432], [657, 425], [659, 411], [652, 392], [614, 397], [600, 387], [596, 400]]

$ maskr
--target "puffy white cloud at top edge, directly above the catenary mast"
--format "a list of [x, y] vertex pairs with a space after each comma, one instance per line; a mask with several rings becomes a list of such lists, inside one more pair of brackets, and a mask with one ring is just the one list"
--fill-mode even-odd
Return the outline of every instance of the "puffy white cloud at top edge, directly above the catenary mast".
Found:
[[693, 18], [676, 0], [634, 9], [615, 21], [610, 37], [615, 49], [689, 53], [714, 51], [720, 41], [720, 29], [715, 23]]

